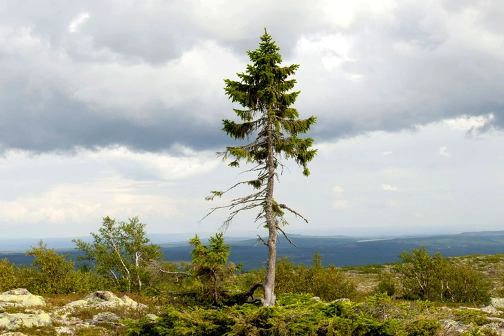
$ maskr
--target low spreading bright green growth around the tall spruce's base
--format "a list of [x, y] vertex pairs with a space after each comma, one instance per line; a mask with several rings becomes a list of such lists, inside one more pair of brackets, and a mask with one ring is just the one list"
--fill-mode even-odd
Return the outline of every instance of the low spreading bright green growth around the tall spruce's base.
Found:
[[[218, 310], [165, 308], [159, 319], [128, 322], [127, 335], [312, 335], [433, 336], [440, 324], [431, 319], [378, 319], [372, 304], [316, 302], [310, 295], [280, 295], [274, 307], [223, 307]], [[407, 310], [407, 308], [404, 308]]]

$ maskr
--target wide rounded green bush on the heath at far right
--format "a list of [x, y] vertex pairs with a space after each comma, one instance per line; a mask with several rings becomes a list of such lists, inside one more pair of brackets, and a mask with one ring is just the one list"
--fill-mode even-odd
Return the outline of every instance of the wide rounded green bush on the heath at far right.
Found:
[[399, 255], [395, 265], [407, 299], [431, 301], [485, 302], [489, 283], [471, 265], [454, 263], [438, 252], [430, 256], [425, 245]]

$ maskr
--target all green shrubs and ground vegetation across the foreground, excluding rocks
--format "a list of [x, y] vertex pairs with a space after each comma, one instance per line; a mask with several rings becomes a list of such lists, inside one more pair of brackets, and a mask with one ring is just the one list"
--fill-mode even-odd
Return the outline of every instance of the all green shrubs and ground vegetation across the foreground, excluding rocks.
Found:
[[[136, 236], [144, 236], [143, 225], [137, 220], [128, 224], [132, 223], [128, 230], [136, 228]], [[85, 258], [89, 263], [76, 268], [68, 255], [41, 241], [27, 252], [33, 257], [30, 267], [0, 261], [0, 292], [27, 288], [44, 295], [48, 306], [43, 309], [50, 313], [95, 290], [126, 292], [147, 305], [144, 310], [116, 309], [112, 312], [121, 324], [79, 329], [73, 335], [442, 335], [440, 321], [449, 320], [471, 330], [463, 335], [497, 335], [488, 327], [487, 312], [459, 307], [476, 308], [501, 294], [503, 272], [496, 270], [504, 269], [504, 255], [444, 258], [422, 247], [403, 252], [393, 265], [352, 268], [325, 267], [318, 252], [311, 265], [296, 265], [283, 257], [276, 264], [277, 304], [264, 307], [262, 292], [253, 297], [249, 291], [264, 279], [264, 268], [240, 272], [240, 265], [228, 262], [231, 248], [222, 234], [208, 244], [195, 236], [189, 242], [192, 263], [176, 264], [161, 261], [155, 253], [143, 259], [149, 254], [141, 252], [142, 244], [159, 250], [148, 240], [127, 254], [127, 227], [109, 218], [104, 226], [117, 229], [123, 239], [120, 250], [100, 245], [103, 240], [78, 245], [90, 253]], [[97, 251], [100, 258], [91, 258]], [[6, 307], [6, 312], [23, 308]], [[86, 320], [98, 312], [75, 309], [68, 318]], [[492, 318], [501, 317], [504, 313], [497, 311]], [[26, 335], [53, 335], [51, 330], [19, 329]]]

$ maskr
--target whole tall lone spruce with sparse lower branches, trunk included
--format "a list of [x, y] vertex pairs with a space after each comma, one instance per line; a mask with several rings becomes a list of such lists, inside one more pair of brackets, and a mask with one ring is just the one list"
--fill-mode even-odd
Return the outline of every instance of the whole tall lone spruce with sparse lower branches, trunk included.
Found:
[[[239, 167], [242, 160], [253, 164], [247, 171], [255, 173], [255, 178], [237, 183], [226, 191], [211, 192], [212, 195], [206, 199], [212, 200], [215, 196], [222, 196], [239, 185], [253, 187], [253, 194], [235, 198], [224, 207], [215, 207], [209, 214], [216, 209], [230, 209], [231, 213], [223, 224], [226, 229], [238, 212], [259, 209], [255, 221], [262, 221], [269, 234], [267, 242], [259, 238], [268, 247], [267, 272], [264, 283], [255, 284], [249, 295], [252, 296], [256, 288], [262, 287], [264, 290], [262, 304], [273, 306], [276, 301], [275, 266], [278, 231], [285, 235], [282, 226], [287, 224], [283, 218], [284, 212], [285, 210], [291, 212], [306, 221], [296, 211], [273, 198], [273, 186], [279, 177], [278, 170], [281, 173], [285, 167], [282, 158], [294, 158], [303, 168], [303, 175], [309, 175], [307, 163], [316, 155], [316, 149], [311, 149], [312, 138], [299, 138], [298, 135], [306, 133], [316, 122], [316, 117], [300, 120], [298, 111], [291, 107], [300, 91], [291, 91], [296, 80], [287, 78], [296, 73], [298, 64], [280, 66], [282, 63], [282, 56], [278, 53], [280, 48], [276, 46], [266, 29], [260, 39], [259, 48], [247, 52], [252, 64], [246, 66], [245, 73], [237, 73], [239, 80], [224, 80], [226, 95], [233, 102], [239, 103], [243, 109], [233, 109], [242, 122], [222, 120], [224, 124], [222, 130], [235, 140], [250, 141], [253, 138], [253, 141], [227, 147], [226, 151], [217, 153], [223, 160], [231, 159], [229, 163], [231, 167]], [[287, 235], [285, 236], [289, 240]]]

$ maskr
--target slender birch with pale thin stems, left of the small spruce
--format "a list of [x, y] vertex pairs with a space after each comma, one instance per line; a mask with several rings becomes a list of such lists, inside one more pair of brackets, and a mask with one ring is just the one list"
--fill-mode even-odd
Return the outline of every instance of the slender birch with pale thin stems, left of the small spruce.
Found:
[[144, 228], [138, 217], [129, 218], [129, 223], [116, 223], [107, 216], [99, 233], [91, 232], [92, 244], [80, 239], [73, 242], [77, 250], [85, 253], [80, 260], [93, 263], [96, 272], [109, 279], [117, 290], [140, 292], [143, 283], [149, 283], [152, 277], [149, 263], [163, 259], [161, 247], [150, 243]]

